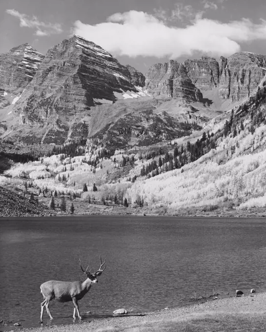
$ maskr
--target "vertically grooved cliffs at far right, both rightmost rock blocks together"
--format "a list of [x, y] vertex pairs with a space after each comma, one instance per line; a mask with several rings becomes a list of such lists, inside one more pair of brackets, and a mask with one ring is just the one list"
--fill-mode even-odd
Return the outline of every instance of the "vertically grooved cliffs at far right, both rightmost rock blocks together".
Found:
[[184, 66], [200, 90], [217, 87], [220, 99], [232, 103], [248, 98], [266, 79], [266, 56], [250, 52], [221, 57], [219, 62], [210, 57], [186, 60]]

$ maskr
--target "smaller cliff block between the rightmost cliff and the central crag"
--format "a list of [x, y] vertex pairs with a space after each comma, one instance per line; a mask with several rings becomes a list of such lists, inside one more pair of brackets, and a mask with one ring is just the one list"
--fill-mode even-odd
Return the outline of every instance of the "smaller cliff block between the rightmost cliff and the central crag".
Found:
[[184, 66], [187, 75], [199, 89], [216, 87], [219, 84], [219, 63], [210, 57], [199, 60], [186, 60]]

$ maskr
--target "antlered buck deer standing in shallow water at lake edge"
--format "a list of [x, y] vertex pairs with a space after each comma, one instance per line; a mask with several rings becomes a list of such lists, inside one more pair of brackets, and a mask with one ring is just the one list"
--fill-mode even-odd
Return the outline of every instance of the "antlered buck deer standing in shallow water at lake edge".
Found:
[[49, 303], [54, 298], [59, 302], [69, 302], [72, 301], [74, 304], [74, 313], [73, 313], [73, 319], [76, 319], [76, 311], [78, 313], [78, 317], [82, 319], [82, 316], [79, 311], [79, 305], [78, 301], [82, 299], [82, 297], [90, 290], [92, 284], [97, 284], [98, 279], [102, 272], [106, 269], [106, 265], [102, 269], [104, 262], [102, 263], [102, 257], [100, 256], [100, 269], [95, 271], [94, 273], [91, 273], [91, 270], [89, 269], [89, 265], [87, 266], [87, 269], [84, 271], [81, 264], [81, 259], [79, 259], [80, 267], [82, 269], [82, 272], [86, 274], [87, 278], [85, 281], [56, 281], [56, 280], [50, 280], [46, 281], [43, 284], [41, 284], [41, 294], [43, 296], [43, 302], [41, 302], [41, 321], [42, 323], [42, 317], [43, 317], [43, 310], [44, 307], [46, 308], [46, 311], [50, 317], [50, 319], [53, 319], [53, 316], [51, 315], [51, 312], [49, 310]]

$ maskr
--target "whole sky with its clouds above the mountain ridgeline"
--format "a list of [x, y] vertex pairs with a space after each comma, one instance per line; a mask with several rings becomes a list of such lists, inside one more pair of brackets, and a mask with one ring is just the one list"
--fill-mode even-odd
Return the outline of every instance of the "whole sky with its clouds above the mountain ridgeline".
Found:
[[174, 59], [266, 55], [266, 0], [0, 0], [0, 53], [80, 35], [141, 72]]

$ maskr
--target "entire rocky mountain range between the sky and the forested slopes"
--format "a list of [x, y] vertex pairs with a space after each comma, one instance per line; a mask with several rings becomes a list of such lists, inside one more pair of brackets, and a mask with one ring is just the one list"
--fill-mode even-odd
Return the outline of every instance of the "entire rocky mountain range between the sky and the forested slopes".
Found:
[[[0, 56], [0, 134], [28, 144], [98, 136], [120, 147], [121, 142], [125, 147], [167, 140], [184, 135], [185, 123], [188, 131], [200, 128], [240, 105], [264, 82], [265, 63], [265, 56], [240, 52], [220, 62], [205, 56], [183, 64], [156, 63], [144, 76], [79, 36], [62, 41], [45, 57], [20, 45]], [[151, 117], [144, 124], [145, 112]], [[128, 131], [122, 134], [129, 119], [142, 128], [132, 127], [131, 137]], [[151, 125], [156, 122], [159, 131]]]

